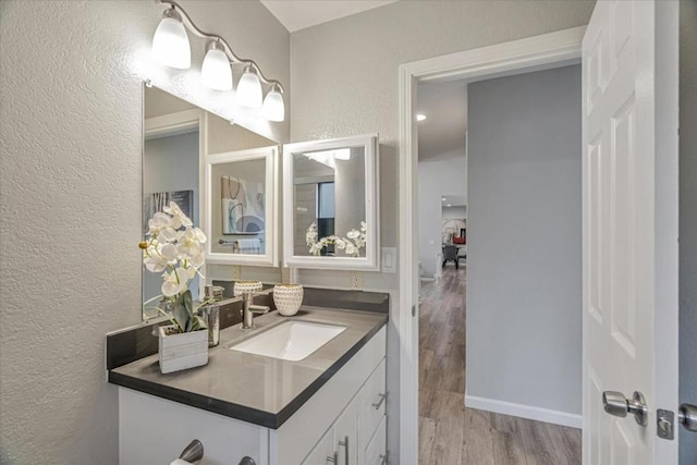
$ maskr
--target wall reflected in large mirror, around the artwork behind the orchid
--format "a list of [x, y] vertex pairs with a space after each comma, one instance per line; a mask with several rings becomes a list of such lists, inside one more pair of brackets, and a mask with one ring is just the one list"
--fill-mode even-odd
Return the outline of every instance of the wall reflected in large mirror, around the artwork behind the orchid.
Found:
[[[194, 191], [192, 221], [200, 228], [198, 131], [146, 140], [143, 150], [143, 193]], [[162, 294], [162, 273], [143, 269], [143, 302]], [[198, 298], [198, 276], [189, 286]], [[150, 304], [152, 305], [152, 304]]]

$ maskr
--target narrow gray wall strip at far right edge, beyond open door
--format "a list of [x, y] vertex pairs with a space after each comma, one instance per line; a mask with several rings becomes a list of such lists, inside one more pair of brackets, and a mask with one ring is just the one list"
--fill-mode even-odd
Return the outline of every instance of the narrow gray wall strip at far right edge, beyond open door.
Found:
[[[697, 404], [697, 2], [680, 3], [680, 402]], [[680, 463], [697, 435], [680, 428]]]

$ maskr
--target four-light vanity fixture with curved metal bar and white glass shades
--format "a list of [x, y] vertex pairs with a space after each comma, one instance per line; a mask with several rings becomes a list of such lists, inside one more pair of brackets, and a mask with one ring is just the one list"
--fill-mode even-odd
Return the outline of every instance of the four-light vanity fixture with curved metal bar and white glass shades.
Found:
[[[162, 13], [162, 21], [152, 37], [152, 54], [159, 62], [180, 70], [191, 68], [191, 46], [186, 35], [188, 29], [195, 36], [209, 40], [200, 73], [204, 85], [216, 90], [231, 90], [231, 66], [245, 66], [237, 83], [235, 95], [237, 103], [261, 108], [261, 114], [269, 121], [285, 120], [284, 89], [281, 83], [268, 79], [253, 60], [237, 57], [221, 36], [199, 29], [175, 1], [155, 0], [155, 2], [169, 5]], [[262, 85], [269, 86], [266, 98], [264, 98]]]

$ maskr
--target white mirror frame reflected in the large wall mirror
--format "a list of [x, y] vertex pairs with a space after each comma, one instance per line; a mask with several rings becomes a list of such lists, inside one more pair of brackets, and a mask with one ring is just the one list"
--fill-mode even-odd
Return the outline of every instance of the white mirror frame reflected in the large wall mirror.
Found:
[[[203, 230], [208, 241], [206, 242], [207, 265], [254, 265], [278, 267], [278, 158], [279, 147], [259, 147], [247, 150], [235, 150], [222, 154], [208, 155], [205, 161], [204, 179], [204, 208], [201, 209]], [[212, 241], [212, 167], [215, 164], [230, 163], [234, 161], [259, 160], [266, 161], [265, 166], [265, 249], [264, 255], [253, 254], [223, 254], [211, 250]]]

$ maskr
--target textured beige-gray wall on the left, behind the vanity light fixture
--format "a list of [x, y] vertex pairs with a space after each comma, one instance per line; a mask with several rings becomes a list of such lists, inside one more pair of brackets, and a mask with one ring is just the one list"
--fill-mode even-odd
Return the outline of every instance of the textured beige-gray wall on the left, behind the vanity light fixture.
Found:
[[[182, 3], [288, 86], [289, 34], [261, 4]], [[118, 463], [105, 334], [140, 321], [137, 70], [161, 11], [0, 2], [2, 464]]]

